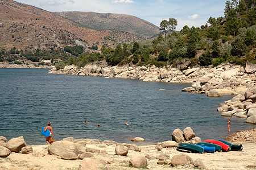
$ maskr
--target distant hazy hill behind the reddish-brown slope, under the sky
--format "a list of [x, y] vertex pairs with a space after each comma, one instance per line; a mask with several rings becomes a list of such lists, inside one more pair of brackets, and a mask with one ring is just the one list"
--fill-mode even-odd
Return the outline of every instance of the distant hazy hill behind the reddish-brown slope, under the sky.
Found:
[[139, 36], [143, 39], [152, 38], [160, 33], [159, 27], [132, 15], [112, 13], [101, 14], [79, 11], [56, 12], [55, 14], [95, 30], [118, 30], [129, 32], [130, 34]]

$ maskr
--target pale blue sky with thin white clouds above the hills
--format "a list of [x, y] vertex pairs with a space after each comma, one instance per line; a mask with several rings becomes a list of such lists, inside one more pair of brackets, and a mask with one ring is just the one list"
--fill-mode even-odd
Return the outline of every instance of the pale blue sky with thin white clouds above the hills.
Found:
[[224, 16], [225, 0], [16, 0], [47, 11], [92, 11], [134, 15], [159, 26], [168, 18], [183, 26], [200, 27], [212, 17]]

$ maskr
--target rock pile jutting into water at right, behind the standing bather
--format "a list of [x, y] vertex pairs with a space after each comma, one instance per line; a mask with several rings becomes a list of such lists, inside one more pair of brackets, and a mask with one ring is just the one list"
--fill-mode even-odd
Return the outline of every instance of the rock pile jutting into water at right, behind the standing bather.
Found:
[[222, 116], [246, 118], [246, 123], [256, 124], [256, 86], [220, 105], [217, 111], [221, 111]]

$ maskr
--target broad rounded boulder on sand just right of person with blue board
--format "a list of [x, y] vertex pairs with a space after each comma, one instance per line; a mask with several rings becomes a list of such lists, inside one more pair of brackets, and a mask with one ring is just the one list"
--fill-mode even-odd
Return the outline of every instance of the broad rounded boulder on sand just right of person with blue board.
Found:
[[57, 155], [63, 157], [63, 159], [67, 158], [67, 155], [74, 156], [74, 154], [71, 155], [70, 152], [73, 152], [76, 157], [79, 154], [76, 144], [67, 140], [53, 142], [48, 148], [48, 154]]

